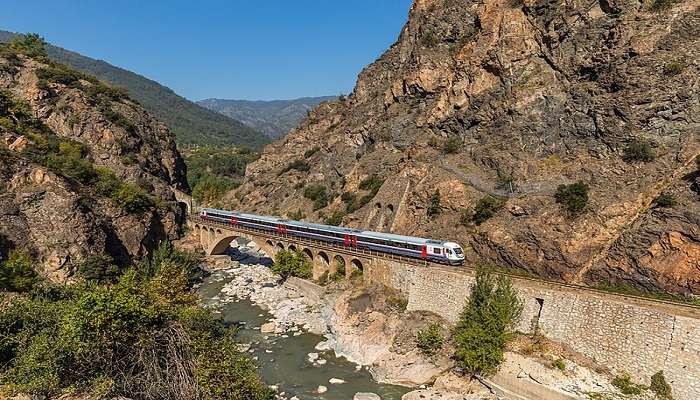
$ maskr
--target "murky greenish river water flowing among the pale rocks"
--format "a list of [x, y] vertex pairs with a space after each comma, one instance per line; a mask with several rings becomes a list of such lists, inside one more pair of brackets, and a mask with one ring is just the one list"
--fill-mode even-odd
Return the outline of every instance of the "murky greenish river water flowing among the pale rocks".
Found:
[[[310, 333], [298, 336], [291, 333], [261, 333], [260, 325], [271, 318], [262, 308], [246, 299], [224, 304], [217, 300], [221, 289], [231, 278], [227, 272], [216, 271], [205, 279], [199, 293], [208, 305], [221, 313], [226, 323], [240, 326], [239, 341], [251, 344], [250, 355], [257, 358], [263, 379], [268, 385], [276, 385], [278, 392], [284, 392], [285, 397], [351, 400], [357, 392], [371, 392], [383, 400], [399, 400], [411, 390], [402, 386], [379, 384], [372, 380], [365, 368], [358, 369], [344, 358], [335, 357], [332, 351], [315, 350], [314, 347], [324, 340], [321, 336]], [[309, 353], [318, 353], [319, 358], [326, 360], [326, 363], [314, 365], [308, 359]], [[342, 379], [345, 383], [331, 384], [331, 378]], [[317, 393], [320, 385], [327, 387], [328, 391]]]

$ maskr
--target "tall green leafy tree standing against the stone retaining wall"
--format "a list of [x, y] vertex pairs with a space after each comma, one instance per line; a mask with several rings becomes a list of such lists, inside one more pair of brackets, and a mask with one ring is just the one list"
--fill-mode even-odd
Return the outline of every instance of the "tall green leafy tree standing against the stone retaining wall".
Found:
[[472, 374], [498, 371], [522, 308], [510, 278], [477, 268], [476, 284], [453, 332], [457, 364]]

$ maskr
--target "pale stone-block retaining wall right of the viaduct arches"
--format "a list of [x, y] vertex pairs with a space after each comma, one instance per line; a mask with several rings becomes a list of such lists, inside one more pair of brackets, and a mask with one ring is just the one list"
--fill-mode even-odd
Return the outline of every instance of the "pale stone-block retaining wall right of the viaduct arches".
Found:
[[[376, 261], [366, 279], [404, 293], [408, 310], [455, 322], [474, 276], [464, 271]], [[682, 306], [514, 279], [524, 302], [518, 330], [551, 340], [649, 385], [663, 371], [674, 398], [700, 398], [700, 319]], [[691, 310], [692, 311], [692, 310]]]

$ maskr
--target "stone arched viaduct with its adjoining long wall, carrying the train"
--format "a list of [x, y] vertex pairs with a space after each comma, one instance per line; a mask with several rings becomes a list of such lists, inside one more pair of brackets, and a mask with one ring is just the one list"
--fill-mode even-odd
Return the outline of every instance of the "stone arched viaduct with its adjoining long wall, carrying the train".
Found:
[[[346, 276], [391, 287], [407, 299], [407, 310], [429, 311], [454, 323], [474, 284], [473, 270], [428, 265], [420, 260], [300, 240], [283, 234], [190, 220], [207, 254], [223, 254], [236, 238], [256, 243], [268, 256], [301, 250], [312, 260], [313, 277], [341, 267]], [[700, 308], [583, 286], [512, 276], [524, 303], [517, 330], [540, 333], [604, 366], [630, 373], [649, 385], [663, 371], [677, 400], [700, 399]], [[542, 398], [542, 397], [540, 397]], [[544, 398], [549, 398], [545, 396]]]

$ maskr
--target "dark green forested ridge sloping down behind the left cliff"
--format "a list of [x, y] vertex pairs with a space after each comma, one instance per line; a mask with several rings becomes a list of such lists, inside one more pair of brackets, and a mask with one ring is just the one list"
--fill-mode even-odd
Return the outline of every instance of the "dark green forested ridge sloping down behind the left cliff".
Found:
[[[0, 42], [9, 41], [14, 35], [0, 31]], [[269, 141], [267, 136], [248, 125], [200, 107], [146, 77], [60, 47], [49, 45], [46, 50], [56, 62], [126, 88], [132, 98], [175, 133], [178, 143], [244, 145], [259, 149]]]

